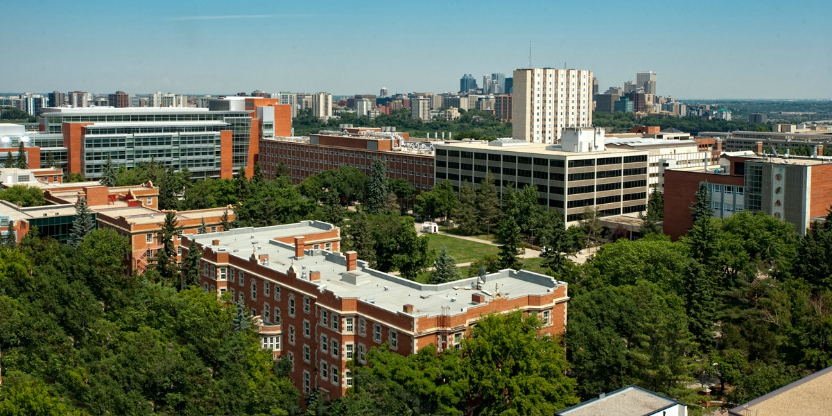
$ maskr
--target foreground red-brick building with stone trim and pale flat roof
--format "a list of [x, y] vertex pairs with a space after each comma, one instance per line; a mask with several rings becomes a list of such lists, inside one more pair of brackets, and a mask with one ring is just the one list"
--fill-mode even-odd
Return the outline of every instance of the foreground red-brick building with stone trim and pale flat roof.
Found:
[[544, 334], [562, 334], [567, 323], [567, 284], [552, 277], [500, 270], [423, 285], [370, 269], [354, 251], [334, 252], [339, 229], [317, 221], [185, 239], [186, 250], [202, 251], [203, 288], [244, 300], [262, 322], [264, 348], [289, 360], [290, 379], [304, 395], [346, 394], [347, 362], [365, 363], [383, 343], [404, 355], [429, 344], [459, 348], [484, 314], [537, 314]]

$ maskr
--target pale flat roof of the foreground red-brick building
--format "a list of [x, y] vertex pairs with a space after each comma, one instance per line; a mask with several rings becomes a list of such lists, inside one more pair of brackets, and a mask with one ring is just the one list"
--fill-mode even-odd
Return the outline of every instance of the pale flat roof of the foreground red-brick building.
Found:
[[[256, 247], [257, 255], [269, 255], [268, 263], [260, 266], [284, 275], [294, 260], [299, 279], [308, 280], [310, 271], [320, 272], [320, 280], [312, 283], [318, 285], [321, 291], [329, 291], [341, 298], [363, 300], [392, 313], [401, 312], [403, 305], [414, 305], [414, 312], [409, 314], [411, 316], [439, 315], [443, 313], [443, 307], [449, 308], [450, 315], [463, 313], [476, 305], [471, 301], [473, 293], [488, 291], [484, 295], [489, 299], [495, 293], [495, 287], [503, 298], [512, 300], [527, 295], [545, 295], [566, 285], [550, 276], [526, 270], [500, 270], [487, 275], [483, 290], [474, 287], [477, 277], [442, 285], [423, 285], [370, 269], [362, 260], [357, 262], [356, 270], [348, 272], [344, 255], [326, 250], [305, 250], [303, 257], [295, 259], [294, 245], [274, 240], [321, 232], [327, 230], [326, 226], [331, 227], [319, 221], [304, 221], [299, 224], [240, 228], [188, 237], [193, 237], [196, 242], [215, 252], [228, 252], [243, 260], [249, 260]], [[220, 240], [220, 244], [212, 245], [213, 240]]]

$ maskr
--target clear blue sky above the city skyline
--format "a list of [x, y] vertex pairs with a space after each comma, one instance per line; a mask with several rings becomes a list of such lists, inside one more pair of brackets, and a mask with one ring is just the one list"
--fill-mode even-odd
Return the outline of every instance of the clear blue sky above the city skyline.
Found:
[[470, 73], [658, 73], [680, 99], [832, 98], [829, 0], [0, 2], [0, 92], [455, 92]]

